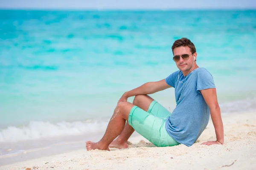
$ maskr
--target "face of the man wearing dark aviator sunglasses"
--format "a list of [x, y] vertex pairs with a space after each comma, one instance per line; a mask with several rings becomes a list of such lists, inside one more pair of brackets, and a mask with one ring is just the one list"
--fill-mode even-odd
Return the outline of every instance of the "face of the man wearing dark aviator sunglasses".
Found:
[[[183, 59], [181, 57], [182, 54], [188, 54], [189, 59], [188, 60]], [[174, 56], [176, 56], [176, 55], [180, 56], [180, 60], [178, 62], [175, 62], [176, 65], [177, 65], [177, 68], [180, 71], [189, 71], [192, 67], [194, 56], [196, 57], [196, 53], [192, 54], [191, 51], [190, 51], [190, 48], [188, 46], [186, 46], [186, 47], [181, 46], [181, 47], [174, 48], [173, 49], [173, 55]]]

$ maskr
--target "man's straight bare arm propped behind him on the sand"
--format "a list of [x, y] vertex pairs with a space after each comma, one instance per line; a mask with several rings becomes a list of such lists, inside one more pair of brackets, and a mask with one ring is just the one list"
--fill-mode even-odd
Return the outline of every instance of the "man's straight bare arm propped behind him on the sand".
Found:
[[207, 144], [207, 145], [223, 144], [224, 142], [223, 123], [221, 119], [221, 109], [217, 101], [216, 89], [209, 88], [209, 89], [201, 90], [201, 94], [203, 95], [205, 102], [209, 106], [212, 123], [214, 125], [216, 138], [217, 138], [216, 141], [208, 141], [202, 144]]

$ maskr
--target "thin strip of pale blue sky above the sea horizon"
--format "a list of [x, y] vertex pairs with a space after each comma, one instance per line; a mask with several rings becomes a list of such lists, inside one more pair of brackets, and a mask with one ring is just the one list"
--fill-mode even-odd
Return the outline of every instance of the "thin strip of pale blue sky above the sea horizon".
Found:
[[256, 9], [256, 0], [0, 0], [0, 8]]

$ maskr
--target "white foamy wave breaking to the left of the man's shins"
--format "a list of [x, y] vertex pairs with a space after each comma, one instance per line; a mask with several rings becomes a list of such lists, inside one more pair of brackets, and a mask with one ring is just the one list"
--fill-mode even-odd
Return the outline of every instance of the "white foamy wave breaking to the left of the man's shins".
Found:
[[106, 129], [108, 122], [29, 122], [23, 127], [9, 126], [0, 129], [0, 142], [18, 142], [70, 135], [99, 133]]

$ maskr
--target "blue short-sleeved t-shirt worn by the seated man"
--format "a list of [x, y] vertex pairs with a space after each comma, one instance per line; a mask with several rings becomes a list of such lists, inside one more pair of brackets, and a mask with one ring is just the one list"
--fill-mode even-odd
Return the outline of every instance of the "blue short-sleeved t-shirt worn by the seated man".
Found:
[[166, 131], [180, 144], [191, 146], [209, 122], [209, 107], [200, 90], [215, 88], [212, 75], [205, 68], [197, 68], [187, 77], [181, 71], [176, 71], [165, 81], [175, 88], [177, 102], [176, 108], [166, 119]]

